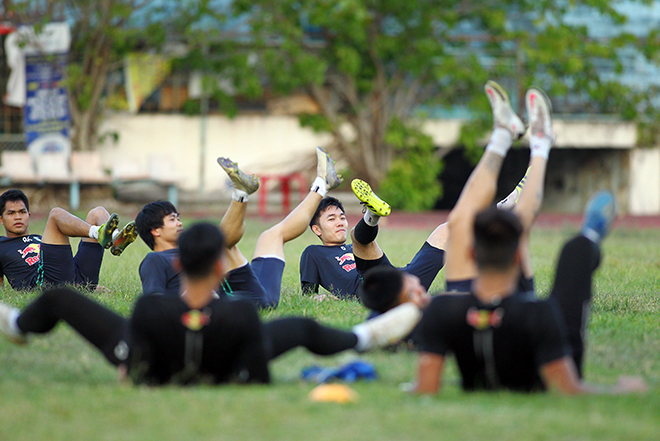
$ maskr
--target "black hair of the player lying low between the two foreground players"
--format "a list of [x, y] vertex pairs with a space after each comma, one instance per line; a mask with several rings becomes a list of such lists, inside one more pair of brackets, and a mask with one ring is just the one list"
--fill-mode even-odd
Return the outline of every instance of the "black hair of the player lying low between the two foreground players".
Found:
[[362, 304], [376, 312], [386, 312], [400, 303], [403, 271], [391, 266], [376, 266], [364, 273], [358, 296]]

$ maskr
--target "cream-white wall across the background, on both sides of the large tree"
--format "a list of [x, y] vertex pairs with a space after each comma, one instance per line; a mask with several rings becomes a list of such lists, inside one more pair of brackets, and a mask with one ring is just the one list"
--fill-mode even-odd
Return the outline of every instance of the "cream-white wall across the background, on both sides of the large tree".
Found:
[[[201, 127], [199, 116], [112, 115], [105, 120], [101, 132], [117, 132], [119, 139], [114, 143], [107, 137], [100, 146], [103, 166], [115, 174], [174, 178], [182, 190], [198, 190]], [[424, 130], [440, 147], [456, 145], [460, 127], [460, 120], [431, 120], [424, 124]], [[621, 207], [622, 211], [660, 213], [660, 149], [635, 148], [634, 124], [559, 119], [555, 120], [555, 132], [555, 148], [630, 150], [629, 198], [626, 206]], [[328, 135], [301, 128], [296, 117], [241, 115], [228, 119], [209, 116], [206, 153], [201, 161], [204, 191], [226, 186], [226, 175], [216, 164], [219, 156], [231, 158], [251, 173], [281, 174], [313, 168], [314, 147], [330, 142]], [[626, 167], [625, 164], [620, 166]]]

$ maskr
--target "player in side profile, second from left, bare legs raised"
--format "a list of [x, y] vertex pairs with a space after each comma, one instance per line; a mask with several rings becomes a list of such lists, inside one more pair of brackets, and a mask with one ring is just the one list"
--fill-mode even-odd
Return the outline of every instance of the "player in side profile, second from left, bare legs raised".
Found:
[[[327, 192], [341, 183], [334, 161], [317, 148], [317, 177], [300, 204], [281, 222], [259, 236], [252, 262], [238, 249], [245, 230], [245, 210], [249, 195], [259, 188], [259, 180], [246, 175], [226, 158], [218, 163], [229, 175], [234, 187], [232, 201], [220, 223], [227, 242], [228, 273], [220, 295], [243, 298], [258, 307], [276, 307], [280, 299], [284, 271], [284, 244], [303, 234], [316, 207]], [[172, 265], [177, 256], [176, 240], [183, 231], [178, 213], [167, 202], [147, 204], [136, 218], [140, 237], [154, 250], [140, 265], [140, 279], [145, 294], [178, 295], [178, 272]]]

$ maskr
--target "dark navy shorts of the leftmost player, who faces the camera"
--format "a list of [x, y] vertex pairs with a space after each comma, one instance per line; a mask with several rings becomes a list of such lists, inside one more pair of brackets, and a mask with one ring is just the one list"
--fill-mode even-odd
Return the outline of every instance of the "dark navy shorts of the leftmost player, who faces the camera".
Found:
[[96, 287], [99, 283], [103, 247], [94, 242], [80, 241], [75, 257], [71, 245], [41, 244], [41, 266], [37, 285], [73, 283]]

